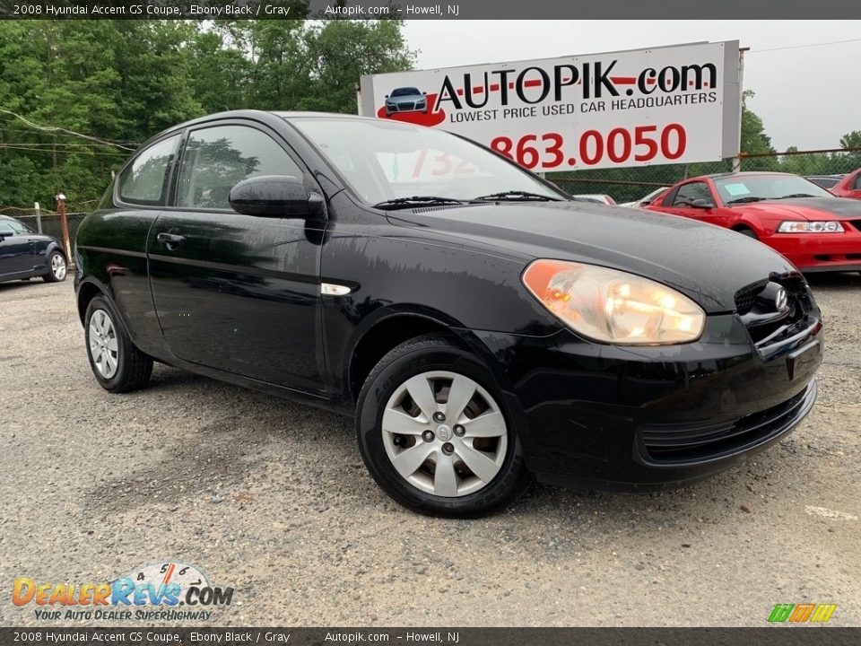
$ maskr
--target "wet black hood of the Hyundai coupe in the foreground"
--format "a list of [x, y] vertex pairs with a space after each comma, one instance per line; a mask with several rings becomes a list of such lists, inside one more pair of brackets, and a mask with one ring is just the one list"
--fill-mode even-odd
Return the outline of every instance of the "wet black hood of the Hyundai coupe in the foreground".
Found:
[[776, 251], [689, 218], [577, 202], [489, 204], [390, 214], [448, 238], [528, 262], [558, 258], [608, 266], [680, 290], [711, 313], [735, 310], [735, 292], [796, 272]]

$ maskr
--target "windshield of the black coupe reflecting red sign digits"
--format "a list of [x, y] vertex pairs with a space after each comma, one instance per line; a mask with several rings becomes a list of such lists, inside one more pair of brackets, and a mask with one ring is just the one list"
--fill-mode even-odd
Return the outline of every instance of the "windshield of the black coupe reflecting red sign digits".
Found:
[[480, 145], [442, 130], [383, 119], [289, 121], [370, 204], [412, 196], [466, 201], [500, 193], [565, 198]]

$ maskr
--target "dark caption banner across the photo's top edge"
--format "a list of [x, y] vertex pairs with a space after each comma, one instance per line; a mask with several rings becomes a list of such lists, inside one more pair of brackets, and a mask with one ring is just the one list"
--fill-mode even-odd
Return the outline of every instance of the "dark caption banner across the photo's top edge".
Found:
[[[846, 0], [816, 3], [721, 0], [0, 0], [0, 19], [35, 20], [578, 20], [578, 19], [856, 19], [857, 4]], [[683, 32], [682, 32], [683, 33]], [[571, 34], [576, 39], [576, 32]]]

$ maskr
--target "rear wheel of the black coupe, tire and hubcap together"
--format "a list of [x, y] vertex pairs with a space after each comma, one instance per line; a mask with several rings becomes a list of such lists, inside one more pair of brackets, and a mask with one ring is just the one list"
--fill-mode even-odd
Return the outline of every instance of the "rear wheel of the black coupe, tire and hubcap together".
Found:
[[94, 297], [83, 320], [87, 358], [100, 386], [114, 393], [143, 388], [152, 375], [152, 359], [129, 339], [113, 304]]

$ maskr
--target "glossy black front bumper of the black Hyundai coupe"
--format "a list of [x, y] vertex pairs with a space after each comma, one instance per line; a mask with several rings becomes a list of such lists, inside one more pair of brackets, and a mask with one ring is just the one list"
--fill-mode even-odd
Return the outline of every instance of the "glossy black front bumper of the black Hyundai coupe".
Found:
[[685, 345], [599, 345], [474, 333], [508, 384], [527, 464], [542, 482], [600, 489], [684, 485], [778, 441], [816, 398], [819, 310], [786, 343], [757, 347], [735, 314]]

